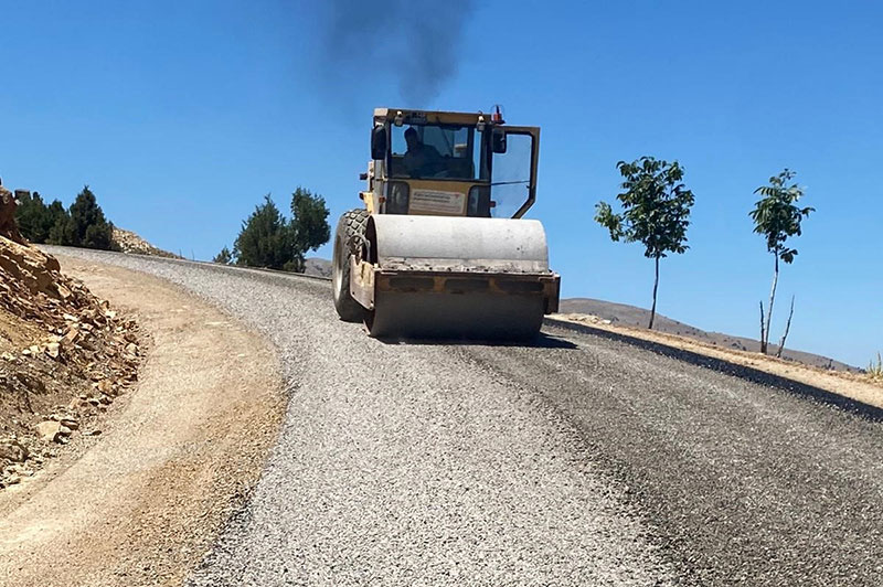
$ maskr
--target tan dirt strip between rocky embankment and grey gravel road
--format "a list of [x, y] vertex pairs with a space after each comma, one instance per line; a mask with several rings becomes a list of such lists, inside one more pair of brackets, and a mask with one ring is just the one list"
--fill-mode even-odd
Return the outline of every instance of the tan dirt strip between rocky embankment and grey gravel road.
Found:
[[100, 436], [0, 495], [0, 585], [180, 585], [276, 437], [284, 399], [275, 354], [168, 282], [61, 262], [138, 316], [152, 351]]

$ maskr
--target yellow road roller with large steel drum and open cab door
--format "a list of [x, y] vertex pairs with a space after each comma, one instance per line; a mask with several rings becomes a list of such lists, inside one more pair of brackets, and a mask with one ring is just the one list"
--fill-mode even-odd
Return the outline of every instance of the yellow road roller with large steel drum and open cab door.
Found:
[[342, 320], [380, 339], [525, 341], [561, 277], [536, 199], [540, 129], [491, 113], [376, 108], [363, 206], [334, 234]]

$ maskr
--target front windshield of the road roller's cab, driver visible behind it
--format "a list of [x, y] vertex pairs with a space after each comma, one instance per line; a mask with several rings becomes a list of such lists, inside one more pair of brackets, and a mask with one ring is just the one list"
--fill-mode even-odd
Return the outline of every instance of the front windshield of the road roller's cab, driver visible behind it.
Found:
[[489, 181], [488, 145], [475, 127], [392, 127], [393, 178]]

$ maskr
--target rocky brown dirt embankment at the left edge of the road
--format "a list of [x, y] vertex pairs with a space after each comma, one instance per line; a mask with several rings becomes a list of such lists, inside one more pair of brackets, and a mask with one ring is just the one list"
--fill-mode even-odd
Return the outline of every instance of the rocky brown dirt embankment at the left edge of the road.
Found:
[[0, 236], [0, 490], [72, 437], [100, 434], [96, 416], [136, 381], [140, 354], [131, 319], [51, 255]]

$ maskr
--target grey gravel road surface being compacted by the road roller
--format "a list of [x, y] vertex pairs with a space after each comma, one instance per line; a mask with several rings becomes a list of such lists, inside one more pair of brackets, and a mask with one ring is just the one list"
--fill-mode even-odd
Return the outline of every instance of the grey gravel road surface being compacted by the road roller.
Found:
[[265, 333], [290, 403], [209, 585], [881, 585], [883, 423], [606, 335], [389, 344], [326, 282], [73, 252]]

